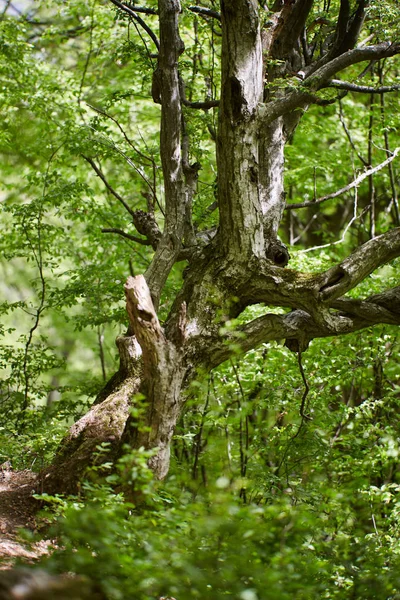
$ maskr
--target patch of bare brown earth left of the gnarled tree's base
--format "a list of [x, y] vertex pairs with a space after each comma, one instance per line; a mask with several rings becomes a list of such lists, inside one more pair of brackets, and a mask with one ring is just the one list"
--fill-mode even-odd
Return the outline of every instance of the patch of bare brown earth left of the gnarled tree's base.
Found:
[[9, 569], [15, 562], [33, 562], [49, 552], [51, 541], [29, 544], [20, 539], [18, 531], [37, 527], [35, 515], [37, 474], [32, 471], [0, 472], [0, 570]]

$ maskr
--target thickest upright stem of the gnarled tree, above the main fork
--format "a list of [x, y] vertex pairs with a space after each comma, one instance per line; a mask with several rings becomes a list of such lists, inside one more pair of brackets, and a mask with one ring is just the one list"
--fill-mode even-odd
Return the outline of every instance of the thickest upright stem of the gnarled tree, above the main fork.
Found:
[[217, 140], [220, 232], [225, 253], [265, 256], [257, 142], [263, 63], [257, 2], [224, 0]]

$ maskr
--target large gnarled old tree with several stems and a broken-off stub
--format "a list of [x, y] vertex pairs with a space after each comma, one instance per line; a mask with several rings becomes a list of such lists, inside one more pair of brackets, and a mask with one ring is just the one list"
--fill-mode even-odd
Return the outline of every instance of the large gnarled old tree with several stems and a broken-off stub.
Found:
[[[46, 473], [48, 489], [73, 490], [101, 442], [109, 442], [111, 456], [124, 444], [151, 450], [149, 464], [157, 478], [164, 478], [185, 390], [232, 353], [284, 339], [301, 362], [314, 338], [400, 323], [399, 287], [363, 299], [346, 296], [400, 255], [400, 228], [376, 235], [372, 202], [371, 239], [325, 271], [286, 268], [289, 252], [278, 238], [285, 207], [296, 207], [286, 206], [285, 145], [307, 108], [329, 106], [347, 92], [376, 95], [398, 89], [384, 81], [377, 87], [336, 79], [343, 71], [354, 78], [355, 65], [370, 66], [400, 53], [398, 42], [382, 41], [375, 31], [363, 37], [367, 0], [285, 0], [268, 7], [255, 0], [224, 0], [220, 12], [214, 6], [188, 7], [221, 35], [220, 98], [204, 101], [187, 99], [190, 85], [180, 67], [185, 44], [178, 0], [159, 0], [157, 9], [111, 1], [118, 15], [141, 28], [156, 49], [152, 97], [161, 106], [164, 214], [161, 227], [155, 194], [147, 196], [147, 211], [132, 210], [104, 175], [96, 149], [89, 144], [85, 151], [79, 149], [128, 210], [138, 235], [114, 232], [152, 247], [154, 256], [146, 272], [130, 276], [125, 285], [129, 328], [117, 339], [119, 370], [62, 442]], [[156, 17], [158, 35], [146, 21], [154, 23]], [[369, 45], [371, 41], [375, 43]], [[363, 68], [361, 75], [366, 72]], [[219, 220], [217, 227], [199, 231], [193, 203], [201, 164], [191, 161], [187, 111], [216, 106], [218, 130], [209, 129], [216, 142], [218, 174], [216, 201], [209, 212], [218, 206]], [[388, 151], [384, 164], [397, 153]], [[376, 170], [370, 163], [368, 167], [359, 179]], [[357, 183], [347, 182], [346, 189]], [[187, 262], [182, 284], [161, 325], [161, 294], [180, 261]], [[236, 324], [246, 307], [259, 303], [289, 311], [266, 311]], [[129, 416], [132, 398], [138, 395], [145, 398], [143, 411], [140, 417]], [[304, 406], [301, 414], [308, 418]]]

